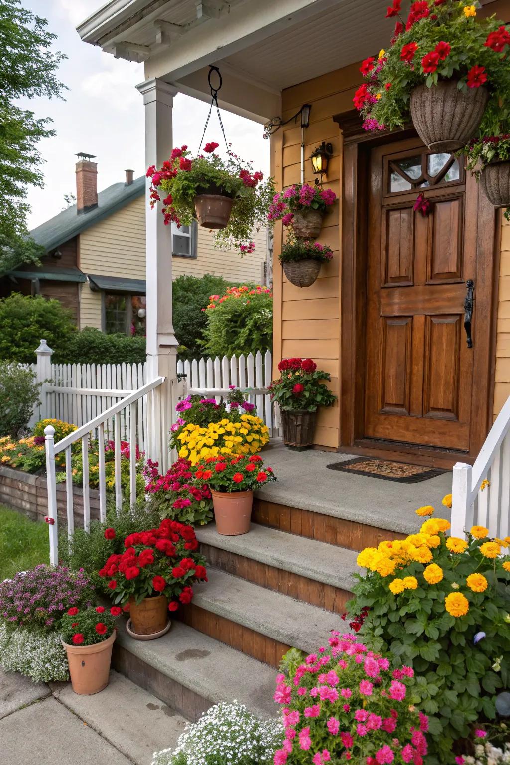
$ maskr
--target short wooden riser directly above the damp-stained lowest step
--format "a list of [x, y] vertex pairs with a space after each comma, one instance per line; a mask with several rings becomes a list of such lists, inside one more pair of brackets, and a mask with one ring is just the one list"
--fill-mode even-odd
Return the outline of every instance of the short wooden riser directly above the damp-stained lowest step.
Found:
[[212, 614], [193, 603], [182, 610], [179, 618], [194, 630], [209, 635], [220, 643], [225, 643], [245, 653], [246, 656], [252, 656], [253, 659], [265, 662], [276, 669], [280, 665], [281, 657], [291, 648], [272, 637], [261, 635], [250, 627], [244, 627], [225, 617]]

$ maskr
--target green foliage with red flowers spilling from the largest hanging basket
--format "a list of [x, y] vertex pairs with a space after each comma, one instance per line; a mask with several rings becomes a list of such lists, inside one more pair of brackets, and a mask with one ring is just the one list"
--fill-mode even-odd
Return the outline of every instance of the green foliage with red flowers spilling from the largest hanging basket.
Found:
[[[475, 2], [474, 5], [479, 7], [480, 4]], [[486, 40], [503, 22], [495, 16], [482, 19], [466, 17], [466, 3], [463, 0], [446, 0], [442, 5], [429, 2], [429, 6], [427, 12], [430, 18], [422, 18], [407, 31], [398, 34], [385, 51], [382, 64], [373, 59], [364, 62], [369, 80], [368, 94], [361, 89], [356, 93], [356, 107], [362, 109], [363, 116], [384, 125], [385, 129], [404, 128], [411, 119], [409, 99], [414, 87], [422, 84], [433, 87], [440, 80], [454, 79], [466, 92], [469, 90], [469, 70], [484, 67], [489, 102], [479, 134], [498, 135], [502, 132], [502, 125], [508, 124], [510, 116], [510, 69], [506, 53], [502, 52], [506, 46], [498, 52], [486, 46]], [[432, 70], [424, 71], [421, 60], [443, 42], [450, 45], [450, 52], [436, 62], [435, 69], [433, 64], [432, 67], [425, 67]], [[411, 43], [417, 44], [416, 53], [410, 61], [402, 60], [402, 48]], [[376, 96], [375, 103], [367, 95]]]

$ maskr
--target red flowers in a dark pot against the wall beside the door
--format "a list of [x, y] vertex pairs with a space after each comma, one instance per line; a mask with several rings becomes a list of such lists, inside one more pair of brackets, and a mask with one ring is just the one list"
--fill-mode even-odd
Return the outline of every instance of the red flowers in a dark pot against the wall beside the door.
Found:
[[332, 406], [336, 396], [323, 380], [330, 374], [317, 369], [312, 359], [282, 359], [281, 376], [269, 386], [271, 400], [278, 402], [284, 429], [284, 444], [298, 451], [313, 444], [315, 414], [320, 406]]

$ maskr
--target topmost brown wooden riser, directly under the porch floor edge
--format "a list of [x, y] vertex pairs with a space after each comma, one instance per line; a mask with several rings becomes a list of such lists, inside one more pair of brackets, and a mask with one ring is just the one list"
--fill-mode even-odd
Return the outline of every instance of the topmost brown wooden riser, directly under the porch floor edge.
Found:
[[391, 532], [367, 526], [365, 523], [324, 516], [310, 510], [290, 507], [275, 502], [268, 502], [255, 497], [252, 521], [271, 529], [290, 532], [317, 542], [346, 547], [349, 550], [362, 550], [365, 547], [377, 547], [385, 540], [405, 539], [405, 534]]

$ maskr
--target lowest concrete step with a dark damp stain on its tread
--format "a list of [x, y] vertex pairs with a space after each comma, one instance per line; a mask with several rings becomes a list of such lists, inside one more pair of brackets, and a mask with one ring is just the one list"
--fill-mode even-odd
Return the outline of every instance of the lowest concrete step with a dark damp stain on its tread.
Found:
[[113, 664], [190, 720], [234, 698], [263, 718], [278, 714], [274, 669], [178, 621], [158, 640], [134, 640], [119, 627]]

